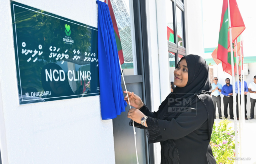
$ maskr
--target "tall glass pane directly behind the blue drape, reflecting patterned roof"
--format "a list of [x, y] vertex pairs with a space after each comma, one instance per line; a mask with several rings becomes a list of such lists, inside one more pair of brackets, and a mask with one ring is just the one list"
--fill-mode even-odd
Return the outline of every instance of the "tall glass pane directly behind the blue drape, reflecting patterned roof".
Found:
[[111, 5], [115, 14], [116, 24], [120, 36], [119, 39], [118, 34], [115, 31], [118, 54], [123, 53], [124, 56], [124, 64], [121, 65], [122, 72], [124, 75], [136, 75], [137, 64], [133, 22], [134, 19], [132, 18], [131, 14], [133, 9], [130, 8], [133, 6], [132, 0], [111, 0]]

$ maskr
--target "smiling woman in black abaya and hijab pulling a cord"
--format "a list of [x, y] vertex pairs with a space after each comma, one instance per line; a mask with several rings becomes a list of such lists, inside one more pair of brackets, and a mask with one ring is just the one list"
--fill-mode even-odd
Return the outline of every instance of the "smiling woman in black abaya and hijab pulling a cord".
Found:
[[[174, 71], [176, 88], [156, 112], [128, 92], [131, 106], [136, 109], [130, 109], [127, 117], [134, 120], [136, 127], [147, 129], [149, 143], [160, 142], [161, 164], [216, 164], [209, 144], [215, 110], [208, 73], [202, 57], [182, 57]], [[125, 100], [128, 103], [127, 96]], [[142, 117], [146, 117], [144, 126]]]

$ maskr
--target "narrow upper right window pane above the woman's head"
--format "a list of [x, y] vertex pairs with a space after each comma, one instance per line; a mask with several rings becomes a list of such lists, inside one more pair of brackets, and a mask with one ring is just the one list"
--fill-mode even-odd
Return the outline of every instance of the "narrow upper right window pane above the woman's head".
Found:
[[183, 11], [181, 11], [177, 6], [176, 6], [176, 20], [177, 20], [178, 45], [184, 47], [183, 40], [182, 40], [184, 36]]

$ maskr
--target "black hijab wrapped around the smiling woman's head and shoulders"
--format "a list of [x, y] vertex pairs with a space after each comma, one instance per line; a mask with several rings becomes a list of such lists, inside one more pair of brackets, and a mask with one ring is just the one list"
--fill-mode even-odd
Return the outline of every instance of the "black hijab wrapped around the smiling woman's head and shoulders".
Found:
[[[181, 114], [175, 112], [168, 112], [168, 107], [186, 107], [189, 104], [184, 106], [184, 99], [188, 100], [192, 98], [193, 101], [196, 98], [196, 95], [210, 95], [212, 91], [209, 80], [209, 68], [206, 61], [198, 55], [187, 55], [181, 58], [181, 60], [183, 59], [185, 59], [187, 62], [188, 82], [185, 87], [176, 86], [173, 93], [170, 93], [165, 101], [163, 101], [163, 115], [166, 117], [166, 119], [168, 117], [170, 117], [169, 119], [176, 118], [178, 115]], [[181, 105], [177, 105], [176, 101], [167, 105], [168, 98], [179, 100], [181, 102]]]

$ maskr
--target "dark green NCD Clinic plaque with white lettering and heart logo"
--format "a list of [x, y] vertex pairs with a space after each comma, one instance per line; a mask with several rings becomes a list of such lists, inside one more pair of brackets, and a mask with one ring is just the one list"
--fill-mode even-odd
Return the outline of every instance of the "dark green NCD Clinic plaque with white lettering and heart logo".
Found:
[[100, 94], [97, 28], [11, 1], [20, 104]]

